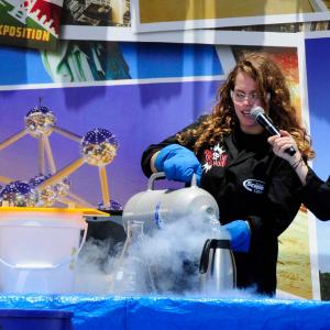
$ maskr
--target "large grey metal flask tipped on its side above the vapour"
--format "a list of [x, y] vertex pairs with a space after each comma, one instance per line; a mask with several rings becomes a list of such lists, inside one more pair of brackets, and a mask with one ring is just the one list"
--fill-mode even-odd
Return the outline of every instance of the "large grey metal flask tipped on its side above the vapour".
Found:
[[123, 208], [123, 226], [130, 220], [143, 221], [144, 232], [152, 233], [168, 223], [184, 218], [196, 218], [210, 224], [219, 219], [219, 208], [215, 198], [196, 185], [193, 176], [191, 186], [182, 189], [154, 190], [154, 182], [165, 177], [164, 173], [153, 174], [147, 189], [131, 197]]

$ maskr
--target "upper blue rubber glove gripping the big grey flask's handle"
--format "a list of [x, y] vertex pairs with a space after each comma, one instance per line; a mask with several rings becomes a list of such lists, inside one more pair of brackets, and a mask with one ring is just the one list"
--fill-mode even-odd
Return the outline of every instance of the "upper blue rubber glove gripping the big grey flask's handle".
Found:
[[197, 185], [200, 185], [201, 165], [196, 155], [185, 146], [169, 144], [163, 147], [154, 165], [157, 170], [164, 172], [169, 180], [190, 183], [193, 174], [196, 173]]

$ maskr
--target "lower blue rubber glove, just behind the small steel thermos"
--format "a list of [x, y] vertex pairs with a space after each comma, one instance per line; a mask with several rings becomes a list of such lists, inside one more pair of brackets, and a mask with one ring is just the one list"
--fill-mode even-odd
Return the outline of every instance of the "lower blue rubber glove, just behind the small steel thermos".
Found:
[[235, 220], [223, 226], [231, 237], [231, 249], [234, 252], [248, 252], [250, 249], [251, 230], [246, 221]]

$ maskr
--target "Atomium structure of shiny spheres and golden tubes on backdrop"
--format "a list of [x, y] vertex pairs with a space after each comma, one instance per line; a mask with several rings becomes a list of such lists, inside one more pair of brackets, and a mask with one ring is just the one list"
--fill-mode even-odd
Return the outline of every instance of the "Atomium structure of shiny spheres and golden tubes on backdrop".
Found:
[[[0, 193], [0, 202], [9, 206], [38, 206], [50, 207], [56, 201], [66, 205], [94, 208], [88, 201], [70, 191], [68, 176], [85, 163], [97, 166], [102, 193], [103, 210], [111, 207], [106, 165], [109, 165], [117, 155], [118, 141], [106, 129], [94, 129], [84, 136], [79, 136], [56, 125], [57, 119], [47, 107], [38, 106], [30, 110], [25, 118], [25, 128], [0, 142], [0, 151], [19, 141], [26, 134], [38, 141], [38, 175], [29, 183], [15, 182], [0, 176], [0, 182], [7, 186]], [[62, 169], [56, 168], [50, 144], [50, 135], [58, 133], [79, 143], [81, 156]], [[47, 166], [46, 166], [47, 165]]]

